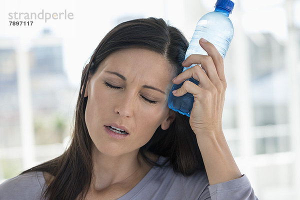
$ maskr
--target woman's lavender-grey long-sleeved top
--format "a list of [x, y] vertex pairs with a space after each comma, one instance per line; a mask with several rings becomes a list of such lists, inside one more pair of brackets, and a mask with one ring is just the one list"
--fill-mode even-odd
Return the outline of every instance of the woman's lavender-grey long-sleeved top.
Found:
[[[166, 158], [160, 156], [162, 163]], [[0, 184], [0, 200], [40, 199], [45, 187], [45, 179], [41, 171], [18, 175]], [[117, 200], [139, 199], [213, 199], [213, 200], [254, 200], [258, 199], [248, 178], [240, 178], [209, 185], [204, 171], [191, 176], [174, 173], [169, 166], [152, 167], [148, 173], [126, 194]]]

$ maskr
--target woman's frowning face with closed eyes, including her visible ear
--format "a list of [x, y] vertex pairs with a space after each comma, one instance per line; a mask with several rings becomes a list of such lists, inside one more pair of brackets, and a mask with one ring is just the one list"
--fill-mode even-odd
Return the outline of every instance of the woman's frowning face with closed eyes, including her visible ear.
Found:
[[86, 126], [100, 153], [138, 151], [159, 125], [169, 127], [175, 117], [167, 106], [174, 76], [162, 55], [142, 48], [113, 52], [100, 63], [84, 93]]

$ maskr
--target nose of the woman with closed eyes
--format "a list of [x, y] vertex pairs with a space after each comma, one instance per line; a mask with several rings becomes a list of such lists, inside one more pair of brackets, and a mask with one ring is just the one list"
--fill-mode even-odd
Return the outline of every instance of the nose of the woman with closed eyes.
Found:
[[134, 97], [132, 94], [123, 94], [122, 97], [116, 98], [114, 113], [121, 117], [131, 117], [134, 110]]

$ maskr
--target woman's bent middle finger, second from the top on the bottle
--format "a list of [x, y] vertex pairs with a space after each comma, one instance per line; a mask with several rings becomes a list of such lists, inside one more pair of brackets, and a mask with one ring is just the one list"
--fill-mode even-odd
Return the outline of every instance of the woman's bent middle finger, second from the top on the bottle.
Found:
[[214, 85], [220, 83], [220, 78], [217, 74], [216, 67], [213, 63], [212, 58], [209, 55], [191, 54], [184, 60], [184, 62], [182, 62], [182, 66], [185, 67], [188, 67], [191, 64], [201, 64], [201, 67], [205, 70], [211, 82]]

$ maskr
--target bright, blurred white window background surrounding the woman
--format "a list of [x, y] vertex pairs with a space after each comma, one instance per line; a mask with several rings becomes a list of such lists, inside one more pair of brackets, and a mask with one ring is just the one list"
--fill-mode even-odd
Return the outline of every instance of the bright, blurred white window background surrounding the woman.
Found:
[[[259, 199], [300, 199], [300, 0], [233, 0], [223, 131]], [[0, 0], [0, 182], [60, 155], [82, 68], [116, 24], [162, 17], [190, 40], [215, 0]], [[65, 12], [27, 19], [9, 12]]]

